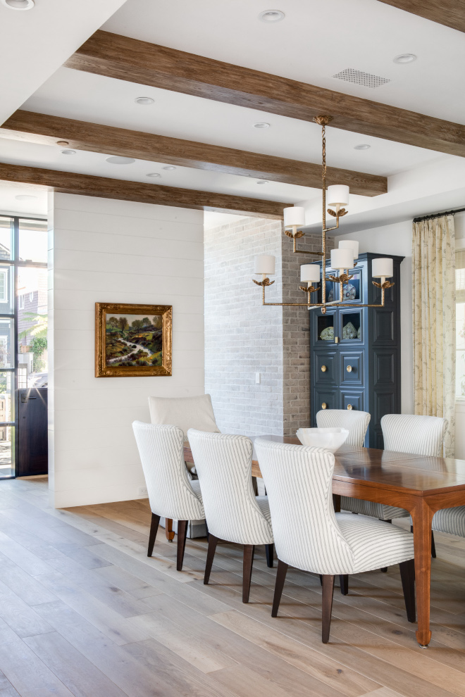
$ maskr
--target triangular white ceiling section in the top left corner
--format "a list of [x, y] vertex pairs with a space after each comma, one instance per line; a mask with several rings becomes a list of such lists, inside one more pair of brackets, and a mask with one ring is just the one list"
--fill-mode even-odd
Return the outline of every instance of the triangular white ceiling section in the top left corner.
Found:
[[0, 4], [0, 123], [124, 2], [36, 0], [22, 12]]

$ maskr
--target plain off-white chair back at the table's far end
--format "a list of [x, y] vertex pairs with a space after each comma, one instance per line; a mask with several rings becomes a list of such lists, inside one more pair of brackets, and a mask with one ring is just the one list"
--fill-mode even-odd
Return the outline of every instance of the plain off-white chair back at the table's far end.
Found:
[[187, 441], [190, 428], [219, 433], [211, 397], [199, 394], [195, 397], [149, 397], [152, 424], [174, 424], [180, 427]]

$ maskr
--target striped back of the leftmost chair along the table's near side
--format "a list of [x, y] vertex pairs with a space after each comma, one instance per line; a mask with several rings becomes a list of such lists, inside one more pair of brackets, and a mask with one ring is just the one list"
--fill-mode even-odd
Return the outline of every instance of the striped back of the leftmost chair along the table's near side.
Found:
[[184, 464], [184, 436], [178, 426], [132, 424], [149, 493], [151, 512], [174, 520], [203, 520], [204, 507]]

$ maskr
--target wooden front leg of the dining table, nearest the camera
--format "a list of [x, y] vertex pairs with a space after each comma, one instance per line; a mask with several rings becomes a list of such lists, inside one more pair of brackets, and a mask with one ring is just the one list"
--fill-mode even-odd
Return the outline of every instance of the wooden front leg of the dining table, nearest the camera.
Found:
[[421, 648], [430, 643], [431, 523], [433, 511], [423, 498], [411, 510], [414, 525], [416, 609], [419, 628], [416, 640]]

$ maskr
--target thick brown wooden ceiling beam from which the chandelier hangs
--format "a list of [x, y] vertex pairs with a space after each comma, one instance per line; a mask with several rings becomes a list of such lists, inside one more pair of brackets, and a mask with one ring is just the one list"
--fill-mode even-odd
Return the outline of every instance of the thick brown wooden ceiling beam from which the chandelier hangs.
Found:
[[65, 63], [118, 80], [171, 89], [343, 130], [465, 156], [465, 126], [306, 82], [97, 31]]

